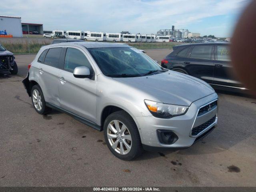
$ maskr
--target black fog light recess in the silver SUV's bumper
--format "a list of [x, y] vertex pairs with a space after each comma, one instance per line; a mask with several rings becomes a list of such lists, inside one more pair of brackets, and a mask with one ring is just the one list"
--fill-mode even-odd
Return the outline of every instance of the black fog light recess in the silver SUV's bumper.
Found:
[[178, 136], [170, 130], [157, 130], [159, 142], [162, 144], [174, 144], [178, 140]]

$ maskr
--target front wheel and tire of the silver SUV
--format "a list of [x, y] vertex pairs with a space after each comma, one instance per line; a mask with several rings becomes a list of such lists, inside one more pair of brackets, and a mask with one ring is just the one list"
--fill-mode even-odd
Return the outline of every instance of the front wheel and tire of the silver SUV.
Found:
[[[120, 126], [121, 134], [119, 134], [120, 132], [115, 134], [118, 130], [116, 129], [116, 124]], [[123, 125], [126, 126], [126, 129], [122, 130]], [[104, 138], [114, 156], [122, 160], [132, 160], [143, 153], [138, 128], [132, 117], [123, 110], [114, 112], [106, 118], [104, 122]], [[130, 150], [126, 147], [127, 144], [130, 146]]]

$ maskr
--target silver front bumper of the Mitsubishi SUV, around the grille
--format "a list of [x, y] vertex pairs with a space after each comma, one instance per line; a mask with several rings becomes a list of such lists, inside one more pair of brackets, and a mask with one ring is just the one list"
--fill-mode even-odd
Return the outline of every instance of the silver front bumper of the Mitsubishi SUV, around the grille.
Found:
[[[137, 117], [136, 120], [138, 122], [142, 144], [144, 146], [160, 148], [186, 148], [191, 146], [197, 138], [200, 138], [206, 132], [212, 130], [212, 128], [217, 124], [217, 107], [201, 116], [197, 116], [200, 107], [217, 99], [218, 96], [216, 93], [206, 96], [193, 102], [186, 114], [170, 119], [156, 118], [154, 116]], [[192, 128], [204, 124], [211, 118], [214, 118], [214, 116], [216, 116], [216, 118], [211, 122], [211, 124], [207, 125], [207, 127], [196, 136], [192, 135]], [[178, 140], [173, 144], [163, 144], [158, 138], [157, 130], [172, 131], [178, 136]]]

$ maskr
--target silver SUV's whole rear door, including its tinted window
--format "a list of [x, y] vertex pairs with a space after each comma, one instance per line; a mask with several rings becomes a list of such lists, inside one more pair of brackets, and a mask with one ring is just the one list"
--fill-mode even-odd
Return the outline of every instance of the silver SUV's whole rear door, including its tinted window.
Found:
[[50, 48], [38, 66], [38, 83], [46, 102], [60, 106], [58, 92], [59, 59], [62, 47]]

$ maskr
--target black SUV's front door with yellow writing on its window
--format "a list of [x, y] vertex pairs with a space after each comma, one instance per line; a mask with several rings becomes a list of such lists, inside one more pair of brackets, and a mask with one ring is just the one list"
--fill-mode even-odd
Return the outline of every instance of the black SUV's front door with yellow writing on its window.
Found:
[[215, 46], [214, 78], [212, 84], [222, 86], [242, 87], [234, 74], [230, 62], [230, 48], [228, 45]]

